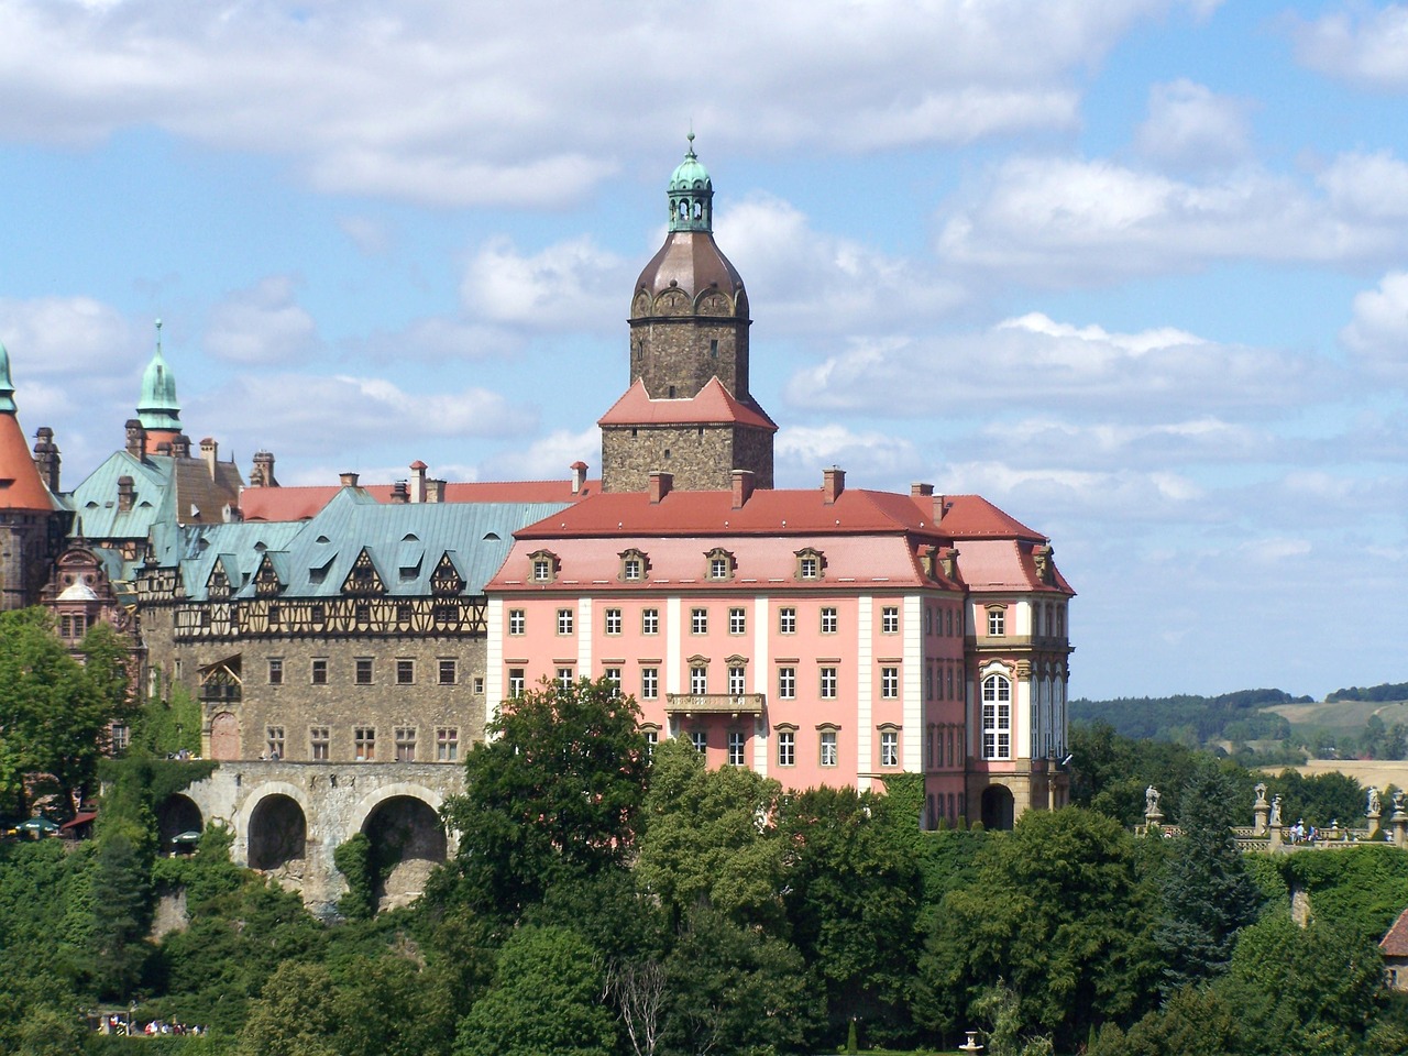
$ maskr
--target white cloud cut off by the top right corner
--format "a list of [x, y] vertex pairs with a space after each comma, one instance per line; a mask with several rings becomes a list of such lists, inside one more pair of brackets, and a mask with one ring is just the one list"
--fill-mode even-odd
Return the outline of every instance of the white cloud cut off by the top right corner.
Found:
[[1311, 69], [1370, 87], [1408, 87], [1408, 6], [1354, 6], [1291, 25], [1297, 56]]

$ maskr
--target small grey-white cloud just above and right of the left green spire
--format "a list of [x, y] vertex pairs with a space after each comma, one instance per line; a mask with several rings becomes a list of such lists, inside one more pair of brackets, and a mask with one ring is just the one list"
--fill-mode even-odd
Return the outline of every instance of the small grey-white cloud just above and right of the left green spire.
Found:
[[232, 363], [286, 363], [321, 345], [313, 317], [294, 303], [293, 279], [283, 275], [231, 293], [206, 328], [206, 351]]

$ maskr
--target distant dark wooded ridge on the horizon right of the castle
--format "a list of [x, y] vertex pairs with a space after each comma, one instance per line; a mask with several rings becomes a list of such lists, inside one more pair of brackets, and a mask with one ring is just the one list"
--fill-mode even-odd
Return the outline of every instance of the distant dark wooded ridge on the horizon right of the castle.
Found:
[[1236, 690], [1217, 697], [1080, 697], [1070, 703], [1070, 717], [1074, 721], [1108, 722], [1122, 736], [1159, 738], [1188, 745], [1224, 739], [1280, 741], [1290, 736], [1291, 724], [1260, 710], [1274, 704], [1309, 703], [1311, 697], [1293, 697], [1284, 690]]

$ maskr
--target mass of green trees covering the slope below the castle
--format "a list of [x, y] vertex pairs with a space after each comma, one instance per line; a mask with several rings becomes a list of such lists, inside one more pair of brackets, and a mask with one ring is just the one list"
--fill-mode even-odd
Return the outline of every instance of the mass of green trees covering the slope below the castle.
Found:
[[[1240, 853], [1252, 774], [1229, 760], [1079, 729], [1081, 805], [919, 832], [914, 776], [787, 793], [686, 741], [652, 758], [636, 722], [610, 683], [505, 705], [425, 895], [373, 915], [384, 863], [349, 843], [332, 926], [218, 831], [158, 857], [152, 808], [189, 765], [115, 765], [94, 841], [0, 846], [0, 1050], [125, 1053], [80, 1012], [130, 1001], [208, 1028], [153, 1055], [783, 1056], [969, 1028], [1028, 1056], [1408, 1049], [1376, 945], [1408, 856]], [[1132, 835], [1150, 783], [1181, 838]], [[1362, 808], [1347, 779], [1271, 784], [1308, 822]], [[159, 900], [189, 921], [156, 938]]]

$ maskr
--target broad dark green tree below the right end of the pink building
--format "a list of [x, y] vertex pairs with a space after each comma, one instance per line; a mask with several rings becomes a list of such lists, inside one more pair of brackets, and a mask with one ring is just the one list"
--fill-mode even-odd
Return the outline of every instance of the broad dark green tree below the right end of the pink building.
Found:
[[1091, 1022], [1133, 1019], [1159, 977], [1156, 894], [1133, 839], [1112, 818], [1028, 811], [979, 855], [974, 884], [949, 893], [921, 977], [969, 998], [998, 979], [1021, 998], [1024, 1029], [1057, 1049]]

